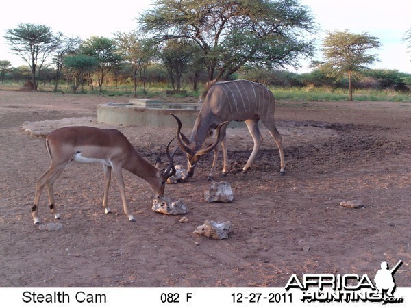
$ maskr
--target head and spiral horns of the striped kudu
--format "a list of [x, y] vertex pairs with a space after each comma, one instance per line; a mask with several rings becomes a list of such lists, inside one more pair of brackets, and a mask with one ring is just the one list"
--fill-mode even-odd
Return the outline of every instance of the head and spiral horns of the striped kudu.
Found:
[[194, 175], [195, 166], [197, 165], [197, 162], [199, 162], [201, 155], [205, 155], [211, 152], [212, 150], [214, 150], [217, 144], [219, 144], [221, 140], [223, 139], [224, 134], [220, 134], [220, 130], [222, 127], [227, 127], [228, 122], [226, 121], [226, 122], [220, 123], [219, 126], [216, 127], [217, 136], [216, 136], [216, 140], [214, 140], [212, 144], [209, 144], [204, 149], [199, 149], [199, 147], [196, 146], [196, 142], [190, 142], [190, 140], [188, 140], [188, 138], [184, 136], [184, 133], [181, 132], [182, 121], [179, 120], [179, 118], [175, 116], [174, 114], [171, 114], [171, 115], [174, 116], [175, 120], [177, 120], [177, 125], [178, 125], [177, 142], [179, 144], [179, 147], [187, 154], [187, 175], [188, 177], [192, 177], [192, 175]]

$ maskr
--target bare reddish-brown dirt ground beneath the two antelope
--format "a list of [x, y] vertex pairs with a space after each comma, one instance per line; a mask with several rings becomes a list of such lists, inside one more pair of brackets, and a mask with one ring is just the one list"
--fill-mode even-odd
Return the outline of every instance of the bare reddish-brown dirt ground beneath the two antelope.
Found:
[[[291, 274], [369, 274], [382, 261], [403, 265], [397, 287], [411, 287], [411, 103], [277, 103], [286, 175], [262, 129], [264, 143], [251, 170], [238, 170], [252, 149], [247, 129], [229, 129], [232, 203], [206, 203], [212, 155], [195, 177], [167, 185], [184, 198], [188, 222], [151, 210], [148, 183], [125, 172], [129, 209], [116, 181], [104, 214], [103, 172], [71, 164], [55, 183], [59, 231], [33, 224], [36, 180], [49, 166], [43, 138], [23, 132], [26, 121], [91, 117], [97, 105], [127, 97], [0, 91], [0, 287], [284, 287]], [[108, 127], [108, 125], [103, 125]], [[114, 125], [110, 126], [114, 127]], [[175, 129], [114, 127], [151, 163]], [[184, 127], [187, 134], [190, 127]], [[158, 153], [159, 152], [159, 153]], [[185, 157], [177, 153], [176, 164]], [[39, 216], [53, 222], [43, 192]], [[341, 201], [360, 199], [351, 209]], [[225, 240], [192, 232], [205, 220], [231, 221]], [[196, 243], [197, 242], [197, 243]]]

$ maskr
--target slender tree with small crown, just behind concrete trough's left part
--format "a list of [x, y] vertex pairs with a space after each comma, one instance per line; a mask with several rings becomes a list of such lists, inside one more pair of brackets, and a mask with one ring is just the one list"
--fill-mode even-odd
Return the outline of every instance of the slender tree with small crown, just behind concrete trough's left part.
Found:
[[147, 48], [147, 46], [151, 47], [149, 39], [140, 36], [136, 31], [131, 31], [129, 33], [114, 33], [114, 40], [123, 59], [132, 65], [134, 97], [137, 97], [138, 73], [153, 54], [151, 49]]

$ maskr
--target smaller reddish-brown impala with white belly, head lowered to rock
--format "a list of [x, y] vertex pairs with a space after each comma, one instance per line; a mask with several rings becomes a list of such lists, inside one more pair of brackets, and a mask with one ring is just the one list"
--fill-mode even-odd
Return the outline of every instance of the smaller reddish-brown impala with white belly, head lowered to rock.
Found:
[[[174, 139], [174, 138], [173, 138]], [[123, 202], [124, 213], [128, 216], [130, 222], [135, 222], [132, 214], [127, 209], [125, 198], [125, 185], [123, 181], [122, 170], [128, 170], [138, 177], [144, 179], [151, 185], [156, 197], [164, 196], [164, 185], [166, 179], [175, 174], [173, 157], [169, 153], [169, 146], [173, 140], [166, 146], [166, 155], [169, 159], [169, 166], [166, 169], [160, 169], [160, 159], [157, 159], [155, 166], [149, 164], [129, 140], [116, 129], [99, 129], [95, 127], [63, 127], [56, 129], [47, 135], [45, 139], [46, 149], [51, 158], [51, 165], [36, 184], [36, 194], [34, 196], [34, 205], [32, 207], [32, 216], [34, 223], [40, 223], [37, 216], [38, 203], [42, 189], [47, 185], [49, 194], [50, 209], [56, 219], [60, 214], [55, 207], [53, 184], [62, 174], [64, 168], [71, 162], [103, 164], [104, 171], [104, 196], [103, 207], [105, 213], [110, 213], [108, 207], [108, 189], [110, 187], [111, 172], [117, 179], [120, 188], [121, 201]]]

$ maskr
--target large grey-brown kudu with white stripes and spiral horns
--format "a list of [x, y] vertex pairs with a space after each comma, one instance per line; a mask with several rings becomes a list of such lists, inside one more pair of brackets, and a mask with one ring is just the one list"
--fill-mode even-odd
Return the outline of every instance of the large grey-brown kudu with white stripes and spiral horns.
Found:
[[216, 82], [210, 81], [207, 84], [206, 92], [201, 96], [201, 110], [192, 128], [190, 140], [181, 133], [181, 122], [174, 116], [179, 124], [177, 129], [177, 141], [180, 148], [187, 153], [188, 176], [194, 175], [195, 165], [199, 161], [201, 155], [204, 155], [214, 149], [214, 159], [208, 179], [212, 180], [216, 171], [216, 161], [219, 155], [220, 146], [223, 148], [223, 175], [228, 172], [227, 158], [227, 137], [225, 129], [227, 125], [221, 129], [221, 138], [218, 144], [214, 147], [203, 149], [204, 141], [210, 134], [210, 129], [215, 129], [219, 123], [223, 121], [240, 121], [245, 122], [251, 136], [253, 138], [253, 151], [247, 163], [242, 168], [246, 172], [251, 166], [258, 149], [262, 143], [260, 129], [258, 129], [258, 121], [269, 129], [271, 136], [277, 144], [280, 157], [280, 174], [284, 175], [284, 151], [282, 146], [282, 137], [277, 131], [274, 122], [274, 107], [275, 99], [273, 93], [262, 84], [257, 84], [247, 80]]

